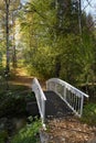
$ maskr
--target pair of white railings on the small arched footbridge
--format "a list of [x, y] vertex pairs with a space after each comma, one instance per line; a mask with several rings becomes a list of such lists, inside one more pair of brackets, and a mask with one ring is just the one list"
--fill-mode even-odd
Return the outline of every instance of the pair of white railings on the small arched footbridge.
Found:
[[[77, 88], [71, 86], [66, 81], [63, 81], [58, 78], [51, 78], [46, 81], [45, 92], [42, 90], [39, 84], [39, 80], [34, 78], [32, 81], [32, 91], [34, 91], [35, 94], [35, 98], [36, 98], [36, 102], [38, 102], [38, 107], [39, 107], [43, 125], [45, 125], [46, 116], [47, 114], [52, 116], [51, 110], [53, 110], [53, 108], [55, 107], [55, 103], [54, 103], [55, 98], [57, 100], [62, 100], [60, 106], [63, 105], [64, 102], [65, 107], [68, 107], [68, 109], [73, 113], [75, 113], [77, 117], [82, 117], [84, 98], [88, 98], [88, 95], [84, 94], [83, 91], [78, 90]], [[56, 96], [58, 96], [60, 98], [57, 98]], [[65, 110], [65, 107], [62, 107], [61, 110], [62, 111]], [[56, 108], [55, 113], [57, 112], [58, 109], [60, 107]]]

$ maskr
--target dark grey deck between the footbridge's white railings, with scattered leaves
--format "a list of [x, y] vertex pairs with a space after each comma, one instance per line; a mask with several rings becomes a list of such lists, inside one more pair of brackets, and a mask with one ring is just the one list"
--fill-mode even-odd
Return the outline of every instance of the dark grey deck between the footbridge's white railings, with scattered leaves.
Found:
[[62, 118], [72, 114], [68, 106], [53, 91], [44, 91], [46, 97], [45, 117]]

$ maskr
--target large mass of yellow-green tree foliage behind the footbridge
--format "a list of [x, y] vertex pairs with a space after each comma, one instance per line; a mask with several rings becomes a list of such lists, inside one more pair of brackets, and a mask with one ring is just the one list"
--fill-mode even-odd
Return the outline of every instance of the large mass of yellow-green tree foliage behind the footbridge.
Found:
[[24, 64], [31, 75], [58, 77], [75, 86], [94, 82], [96, 37], [94, 28], [88, 28], [93, 19], [82, 12], [81, 34], [78, 2], [30, 0], [25, 9], [21, 40]]

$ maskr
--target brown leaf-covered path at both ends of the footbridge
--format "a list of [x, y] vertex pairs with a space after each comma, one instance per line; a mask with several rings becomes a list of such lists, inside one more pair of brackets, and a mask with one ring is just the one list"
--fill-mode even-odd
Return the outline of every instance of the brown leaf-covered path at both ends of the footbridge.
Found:
[[[33, 78], [23, 68], [17, 68], [9, 84], [23, 85], [30, 89]], [[40, 84], [45, 89], [42, 79]], [[47, 120], [47, 130], [42, 131], [42, 134], [45, 143], [96, 143], [96, 127], [82, 123], [74, 117]]]

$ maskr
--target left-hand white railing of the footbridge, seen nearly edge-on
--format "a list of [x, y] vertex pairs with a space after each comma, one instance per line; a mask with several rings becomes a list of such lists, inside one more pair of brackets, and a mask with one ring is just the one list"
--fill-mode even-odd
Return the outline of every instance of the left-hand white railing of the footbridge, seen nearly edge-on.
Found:
[[36, 78], [34, 78], [32, 81], [32, 91], [34, 91], [34, 94], [35, 94], [35, 98], [36, 98], [40, 116], [42, 119], [42, 123], [43, 123], [43, 127], [45, 127], [44, 122], [45, 122], [45, 101], [46, 101], [46, 98], [45, 98], [44, 92], [43, 92], [43, 90], [39, 84], [39, 80]]

